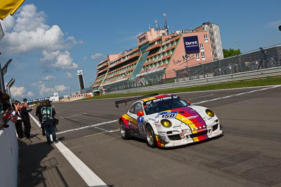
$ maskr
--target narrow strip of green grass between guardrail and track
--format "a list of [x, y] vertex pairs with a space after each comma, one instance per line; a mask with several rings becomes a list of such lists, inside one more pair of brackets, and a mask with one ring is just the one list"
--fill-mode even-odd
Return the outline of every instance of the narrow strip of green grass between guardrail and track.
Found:
[[221, 90], [221, 89], [228, 89], [228, 88], [244, 88], [244, 87], [254, 87], [254, 86], [263, 86], [263, 85], [279, 85], [279, 84], [281, 84], [281, 77], [269, 77], [269, 78], [261, 78], [261, 79], [248, 80], [248, 81], [237, 81], [237, 82], [219, 83], [219, 84], [211, 84], [211, 85], [200, 85], [200, 86], [192, 86], [192, 87], [185, 87], [185, 88], [174, 88], [174, 89], [169, 89], [169, 90], [155, 90], [155, 91], [151, 91], [151, 92], [98, 95], [95, 97], [88, 97], [88, 98], [81, 99], [81, 100], [107, 99], [107, 98], [115, 98], [115, 97], [149, 95], [149, 94], [152, 94], [155, 92], [157, 92], [158, 94], [164, 94], [164, 93], [195, 92], [195, 91], [204, 91], [204, 90]]

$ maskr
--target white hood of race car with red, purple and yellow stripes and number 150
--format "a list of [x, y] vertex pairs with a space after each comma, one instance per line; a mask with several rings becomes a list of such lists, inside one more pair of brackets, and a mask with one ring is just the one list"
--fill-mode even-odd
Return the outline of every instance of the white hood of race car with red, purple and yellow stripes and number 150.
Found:
[[[174, 113], [175, 115], [170, 115], [172, 116], [171, 118], [174, 118], [173, 120], [175, 123], [176, 121], [181, 121], [182, 123], [185, 123], [185, 125], [188, 125], [190, 127], [190, 130], [192, 130], [192, 133], [197, 133], [201, 132], [204, 130], [207, 130], [207, 125], [197, 111], [192, 109], [190, 106], [185, 106], [181, 107], [178, 109], [171, 109], [169, 111], [162, 111], [160, 112], [157, 117], [159, 118], [170, 118], [169, 113]], [[168, 114], [165, 116], [165, 114]]]

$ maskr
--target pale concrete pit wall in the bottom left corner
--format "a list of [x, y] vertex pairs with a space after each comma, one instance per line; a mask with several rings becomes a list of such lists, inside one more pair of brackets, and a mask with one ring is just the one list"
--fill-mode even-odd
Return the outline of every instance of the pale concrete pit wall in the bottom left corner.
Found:
[[0, 130], [0, 186], [18, 186], [18, 139], [15, 124]]

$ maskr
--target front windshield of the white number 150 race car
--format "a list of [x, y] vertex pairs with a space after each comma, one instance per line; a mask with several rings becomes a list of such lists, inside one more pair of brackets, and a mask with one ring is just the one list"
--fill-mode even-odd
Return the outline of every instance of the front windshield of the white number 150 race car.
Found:
[[159, 113], [161, 111], [167, 111], [171, 109], [177, 109], [189, 105], [190, 104], [188, 104], [188, 102], [177, 96], [162, 97], [143, 103], [146, 115], [150, 115], [152, 113]]

